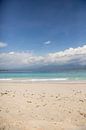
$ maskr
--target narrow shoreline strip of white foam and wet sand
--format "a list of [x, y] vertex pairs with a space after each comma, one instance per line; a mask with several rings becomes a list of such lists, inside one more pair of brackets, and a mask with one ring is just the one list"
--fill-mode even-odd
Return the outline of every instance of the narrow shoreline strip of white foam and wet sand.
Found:
[[65, 78], [31, 79], [31, 78], [1, 78], [0, 83], [54, 83], [54, 84], [86, 84], [86, 80], [70, 80]]

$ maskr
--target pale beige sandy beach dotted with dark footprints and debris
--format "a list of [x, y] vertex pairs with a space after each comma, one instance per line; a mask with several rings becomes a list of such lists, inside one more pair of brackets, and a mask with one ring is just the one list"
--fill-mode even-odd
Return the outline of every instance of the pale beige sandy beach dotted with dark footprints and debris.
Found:
[[0, 130], [86, 130], [86, 82], [0, 81]]

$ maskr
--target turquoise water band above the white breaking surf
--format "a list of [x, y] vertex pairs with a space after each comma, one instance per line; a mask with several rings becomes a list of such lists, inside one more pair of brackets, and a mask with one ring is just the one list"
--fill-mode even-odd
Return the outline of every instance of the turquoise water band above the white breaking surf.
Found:
[[57, 73], [0, 72], [0, 79], [9, 78], [86, 80], [86, 70], [64, 71]]

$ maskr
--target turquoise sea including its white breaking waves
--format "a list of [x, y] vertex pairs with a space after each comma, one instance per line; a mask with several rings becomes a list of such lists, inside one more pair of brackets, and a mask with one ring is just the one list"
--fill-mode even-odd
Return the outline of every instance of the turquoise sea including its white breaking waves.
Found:
[[0, 72], [0, 80], [28, 81], [86, 81], [86, 70], [61, 72]]

